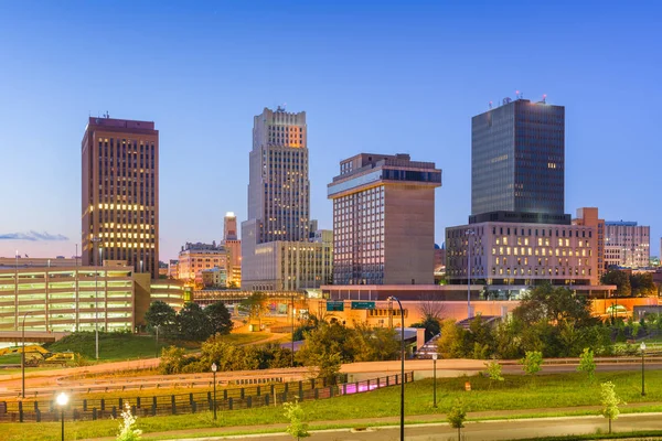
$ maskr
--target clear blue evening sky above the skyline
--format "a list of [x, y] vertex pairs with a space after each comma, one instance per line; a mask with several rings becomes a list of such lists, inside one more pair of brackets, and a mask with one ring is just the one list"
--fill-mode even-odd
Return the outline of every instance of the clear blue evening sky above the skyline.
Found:
[[662, 205], [662, 3], [0, 1], [0, 256], [75, 254], [88, 116], [160, 132], [160, 259], [246, 219], [253, 117], [307, 112], [311, 217], [359, 152], [442, 169], [436, 241], [470, 212], [471, 117], [566, 107], [566, 213], [651, 226]]

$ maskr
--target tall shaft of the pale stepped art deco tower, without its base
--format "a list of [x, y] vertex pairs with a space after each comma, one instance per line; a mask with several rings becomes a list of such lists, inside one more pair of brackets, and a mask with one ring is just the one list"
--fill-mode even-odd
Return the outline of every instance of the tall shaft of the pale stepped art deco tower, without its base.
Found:
[[306, 112], [265, 108], [254, 119], [249, 164], [248, 222], [257, 223], [256, 243], [308, 240], [309, 216]]

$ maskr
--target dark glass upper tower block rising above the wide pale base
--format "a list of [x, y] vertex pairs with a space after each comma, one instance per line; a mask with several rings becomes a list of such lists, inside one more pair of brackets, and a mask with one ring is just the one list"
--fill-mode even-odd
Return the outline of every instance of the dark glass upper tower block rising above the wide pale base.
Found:
[[[471, 119], [471, 214], [564, 215], [565, 108], [510, 98]], [[498, 218], [476, 218], [496, 220]], [[499, 220], [505, 220], [504, 216]], [[508, 220], [506, 220], [508, 222]]]

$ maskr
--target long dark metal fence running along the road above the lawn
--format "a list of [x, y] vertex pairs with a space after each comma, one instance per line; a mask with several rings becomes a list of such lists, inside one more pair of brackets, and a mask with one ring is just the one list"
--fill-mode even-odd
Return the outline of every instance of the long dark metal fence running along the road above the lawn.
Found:
[[[64, 409], [64, 418], [70, 420], [97, 420], [117, 418], [127, 404], [131, 413], [138, 417], [195, 413], [213, 410], [250, 409], [275, 406], [285, 401], [318, 400], [342, 395], [366, 392], [383, 387], [399, 385], [401, 375], [389, 375], [363, 381], [327, 385], [322, 379], [255, 385], [232, 389], [218, 389], [216, 399], [212, 390], [160, 395], [135, 398], [75, 398]], [[414, 381], [414, 373], [405, 373], [404, 383]], [[0, 401], [0, 422], [57, 421], [61, 409], [51, 400]]]

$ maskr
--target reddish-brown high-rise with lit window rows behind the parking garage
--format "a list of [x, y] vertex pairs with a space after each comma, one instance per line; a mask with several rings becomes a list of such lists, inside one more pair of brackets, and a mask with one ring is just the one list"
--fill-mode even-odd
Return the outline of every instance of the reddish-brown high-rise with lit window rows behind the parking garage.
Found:
[[159, 131], [89, 118], [83, 136], [83, 265], [126, 260], [159, 277]]

